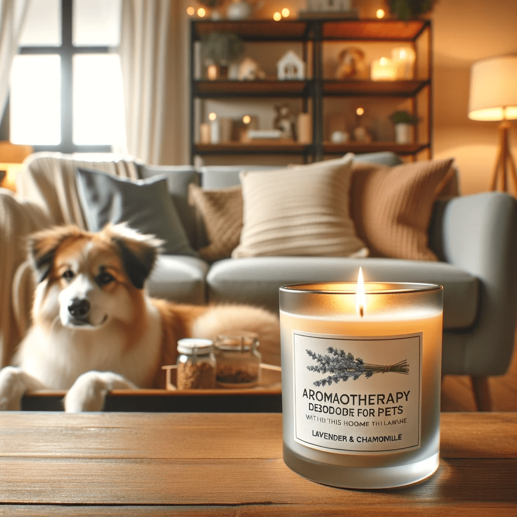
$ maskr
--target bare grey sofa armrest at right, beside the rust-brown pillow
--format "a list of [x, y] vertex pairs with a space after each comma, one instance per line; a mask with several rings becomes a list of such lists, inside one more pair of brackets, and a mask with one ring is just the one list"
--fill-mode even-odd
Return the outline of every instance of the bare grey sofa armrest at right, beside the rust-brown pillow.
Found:
[[476, 322], [457, 340], [465, 348], [465, 371], [505, 373], [517, 313], [517, 202], [501, 192], [438, 201], [430, 246], [440, 260], [480, 281]]

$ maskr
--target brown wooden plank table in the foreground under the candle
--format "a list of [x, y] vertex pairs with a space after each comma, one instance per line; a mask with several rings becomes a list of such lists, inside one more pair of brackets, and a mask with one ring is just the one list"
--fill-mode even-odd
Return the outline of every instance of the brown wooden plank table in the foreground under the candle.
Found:
[[282, 415], [0, 414], [0, 515], [517, 515], [517, 413], [442, 414], [428, 480], [358, 491], [282, 460]]

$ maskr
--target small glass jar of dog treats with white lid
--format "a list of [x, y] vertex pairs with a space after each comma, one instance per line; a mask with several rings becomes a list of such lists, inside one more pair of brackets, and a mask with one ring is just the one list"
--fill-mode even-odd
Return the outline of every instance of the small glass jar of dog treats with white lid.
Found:
[[209, 339], [180, 339], [178, 352], [176, 361], [178, 389], [216, 387], [214, 342]]

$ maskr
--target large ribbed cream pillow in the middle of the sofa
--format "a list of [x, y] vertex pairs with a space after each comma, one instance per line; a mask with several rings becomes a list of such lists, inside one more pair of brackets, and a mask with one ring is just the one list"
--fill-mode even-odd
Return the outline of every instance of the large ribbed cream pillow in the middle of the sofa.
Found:
[[367, 256], [348, 200], [352, 156], [275, 171], [242, 171], [244, 225], [233, 258]]

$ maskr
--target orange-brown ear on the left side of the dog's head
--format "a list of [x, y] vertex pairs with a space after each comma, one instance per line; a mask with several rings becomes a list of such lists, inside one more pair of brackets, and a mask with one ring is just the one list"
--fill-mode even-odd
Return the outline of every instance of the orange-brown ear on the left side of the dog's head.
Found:
[[59, 245], [68, 237], [81, 237], [84, 232], [77, 226], [54, 226], [27, 237], [27, 254], [36, 271], [38, 283], [48, 277]]

